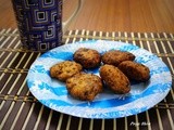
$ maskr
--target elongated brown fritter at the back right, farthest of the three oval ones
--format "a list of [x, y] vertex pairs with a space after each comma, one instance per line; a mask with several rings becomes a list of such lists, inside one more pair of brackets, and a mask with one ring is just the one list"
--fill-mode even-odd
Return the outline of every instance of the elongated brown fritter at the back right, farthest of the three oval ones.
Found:
[[134, 54], [129, 52], [122, 52], [119, 50], [108, 51], [101, 57], [101, 61], [104, 64], [114, 65], [114, 66], [117, 66], [123, 61], [134, 61], [134, 60], [135, 60]]

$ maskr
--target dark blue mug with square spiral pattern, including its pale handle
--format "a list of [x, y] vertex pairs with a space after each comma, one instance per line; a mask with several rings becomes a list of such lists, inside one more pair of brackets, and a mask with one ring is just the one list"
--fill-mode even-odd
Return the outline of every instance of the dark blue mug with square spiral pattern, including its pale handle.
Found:
[[78, 5], [65, 23], [62, 22], [63, 0], [12, 0], [12, 4], [22, 46], [47, 51], [63, 44], [63, 30], [79, 11], [82, 1], [78, 0]]

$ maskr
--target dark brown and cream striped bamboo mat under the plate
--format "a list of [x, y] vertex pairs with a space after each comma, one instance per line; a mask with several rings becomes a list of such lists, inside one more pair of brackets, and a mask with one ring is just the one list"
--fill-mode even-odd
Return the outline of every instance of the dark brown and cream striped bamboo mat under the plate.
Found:
[[[70, 30], [65, 43], [107, 39], [129, 42], [157, 54], [174, 79], [174, 34]], [[17, 29], [0, 29], [0, 129], [2, 130], [174, 130], [174, 82], [151, 109], [119, 119], [84, 119], [54, 112], [28, 91], [26, 75], [40, 52], [21, 49]], [[174, 81], [174, 80], [173, 80]]]

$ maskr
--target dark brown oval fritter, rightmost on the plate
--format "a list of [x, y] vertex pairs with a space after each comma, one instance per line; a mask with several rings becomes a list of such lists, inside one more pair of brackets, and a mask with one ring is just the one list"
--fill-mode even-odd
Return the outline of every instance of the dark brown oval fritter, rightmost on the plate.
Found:
[[117, 66], [129, 79], [147, 81], [150, 78], [150, 70], [147, 66], [132, 61], [122, 62]]

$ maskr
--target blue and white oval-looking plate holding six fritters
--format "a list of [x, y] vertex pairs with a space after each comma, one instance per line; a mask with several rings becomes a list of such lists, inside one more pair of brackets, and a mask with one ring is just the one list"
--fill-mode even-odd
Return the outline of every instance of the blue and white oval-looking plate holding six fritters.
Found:
[[[109, 50], [128, 51], [136, 55], [136, 62], [150, 68], [150, 80], [132, 82], [128, 94], [114, 94], [105, 89], [92, 102], [76, 100], [67, 93], [64, 82], [50, 77], [49, 69], [59, 62], [72, 61], [73, 53], [82, 47], [96, 49], [101, 54]], [[99, 75], [99, 68], [85, 72]], [[145, 112], [161, 102], [171, 89], [172, 77], [167, 66], [147, 50], [98, 40], [65, 44], [42, 54], [30, 66], [27, 84], [39, 102], [54, 110], [84, 118], [120, 118]]]

